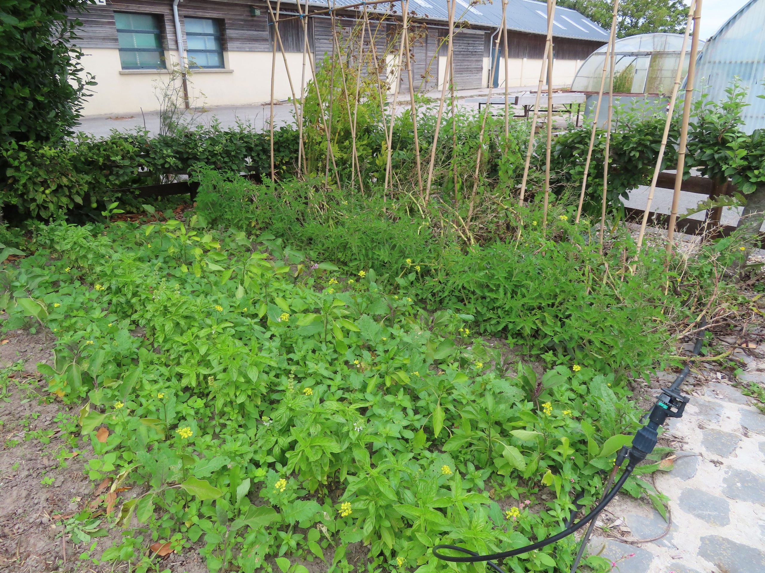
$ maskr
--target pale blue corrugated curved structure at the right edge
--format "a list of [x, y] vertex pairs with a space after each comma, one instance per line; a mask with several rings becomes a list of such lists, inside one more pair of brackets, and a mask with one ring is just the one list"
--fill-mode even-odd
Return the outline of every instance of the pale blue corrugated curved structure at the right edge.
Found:
[[723, 24], [704, 45], [696, 63], [695, 89], [712, 100], [726, 98], [725, 89], [734, 77], [749, 88], [742, 110], [745, 131], [765, 128], [765, 0], [751, 0]]

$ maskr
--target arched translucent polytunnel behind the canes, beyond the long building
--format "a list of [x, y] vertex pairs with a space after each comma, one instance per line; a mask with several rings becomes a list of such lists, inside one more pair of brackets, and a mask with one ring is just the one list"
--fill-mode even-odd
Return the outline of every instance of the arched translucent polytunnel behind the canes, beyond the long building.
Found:
[[[683, 75], [688, 71], [689, 48], [690, 45], [685, 54]], [[606, 50], [607, 45], [604, 45], [584, 60], [571, 84], [573, 91], [598, 92]], [[659, 95], [672, 89], [682, 50], [682, 34], [625, 37], [616, 41], [614, 50], [614, 93]], [[608, 89], [607, 84], [605, 89]]]

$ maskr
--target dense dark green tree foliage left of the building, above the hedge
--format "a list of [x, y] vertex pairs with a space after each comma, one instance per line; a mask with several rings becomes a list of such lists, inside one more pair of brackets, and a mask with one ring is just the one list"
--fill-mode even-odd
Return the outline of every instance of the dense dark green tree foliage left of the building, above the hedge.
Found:
[[0, 144], [55, 141], [80, 117], [83, 53], [74, 47], [81, 0], [0, 0]]

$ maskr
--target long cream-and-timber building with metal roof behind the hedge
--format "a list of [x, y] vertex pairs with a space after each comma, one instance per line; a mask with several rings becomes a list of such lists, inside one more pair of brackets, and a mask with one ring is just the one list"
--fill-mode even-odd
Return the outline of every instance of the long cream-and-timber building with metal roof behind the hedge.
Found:
[[[204, 105], [251, 105], [271, 99], [272, 50], [275, 34], [267, 2], [243, 0], [93, 0], [83, 12], [73, 14], [82, 22], [80, 39], [83, 66], [95, 76], [97, 85], [86, 100], [86, 115], [115, 115], [158, 109], [158, 89], [167, 83], [171, 70], [187, 63], [188, 90], [192, 101]], [[506, 26], [501, 25], [501, 2], [470, 5], [455, 0], [454, 83], [457, 89], [487, 87], [491, 81], [503, 87], [504, 63], [496, 35], [508, 34], [509, 86], [529, 86], [539, 78], [547, 27], [546, 5], [535, 0], [509, 0]], [[321, 66], [324, 55], [334, 49], [333, 21], [342, 34], [349, 34], [362, 18], [357, 2], [334, 2], [349, 8], [326, 13], [327, 4], [301, 2], [301, 18], [294, 0], [283, 0], [278, 15], [279, 36], [274, 74], [275, 99], [286, 99], [299, 89], [304, 70], [304, 44], [308, 41], [306, 69], [310, 61]], [[368, 5], [370, 28], [375, 34], [376, 53], [385, 58], [382, 66], [392, 69], [397, 50], [391, 47], [400, 27], [401, 5]], [[272, 0], [271, 11], [276, 10]], [[446, 76], [448, 12], [445, 0], [411, 0], [410, 24], [416, 29], [410, 47], [412, 82], [418, 91], [440, 86]], [[304, 21], [307, 22], [304, 28]], [[603, 45], [607, 31], [578, 12], [557, 8], [553, 83], [567, 85], [579, 63]], [[307, 34], [304, 34], [304, 30]], [[367, 34], [367, 44], [369, 32]], [[178, 44], [178, 36], [182, 42]], [[339, 46], [339, 44], [337, 44]], [[179, 47], [182, 50], [179, 50]], [[387, 55], [386, 55], [387, 53]], [[492, 68], [493, 59], [500, 58]], [[490, 70], [496, 73], [490, 78]], [[288, 74], [289, 70], [289, 74]], [[177, 75], [177, 74], [176, 74]], [[292, 89], [289, 79], [292, 79]], [[402, 91], [409, 80], [402, 73]]]

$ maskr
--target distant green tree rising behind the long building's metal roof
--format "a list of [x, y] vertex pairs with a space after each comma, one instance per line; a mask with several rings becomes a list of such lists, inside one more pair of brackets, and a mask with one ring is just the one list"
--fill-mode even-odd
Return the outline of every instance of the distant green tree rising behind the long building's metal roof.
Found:
[[[613, 2], [610, 0], [560, 0], [559, 6], [573, 8], [600, 24], [611, 27]], [[617, 37], [651, 34], [653, 32], [685, 31], [688, 6], [682, 0], [629, 0], [619, 5]]]

